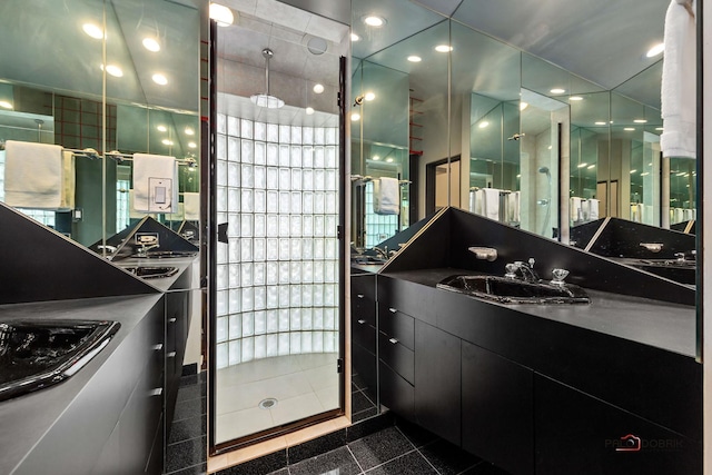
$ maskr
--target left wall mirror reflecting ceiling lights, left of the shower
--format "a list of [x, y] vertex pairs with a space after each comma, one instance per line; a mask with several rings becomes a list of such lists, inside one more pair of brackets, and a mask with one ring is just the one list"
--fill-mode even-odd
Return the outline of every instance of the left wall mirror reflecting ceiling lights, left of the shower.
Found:
[[[0, 12], [12, 19], [0, 31], [0, 140], [77, 150], [70, 205], [18, 209], [81, 245], [106, 240], [146, 215], [131, 209], [130, 199], [132, 155], [141, 152], [179, 162], [180, 202], [175, 212], [154, 216], [176, 230], [198, 222], [199, 208], [186, 212], [184, 202], [190, 195], [199, 202], [196, 6], [13, 0]], [[107, 156], [116, 150], [120, 155]], [[0, 165], [6, 159], [0, 151]]]

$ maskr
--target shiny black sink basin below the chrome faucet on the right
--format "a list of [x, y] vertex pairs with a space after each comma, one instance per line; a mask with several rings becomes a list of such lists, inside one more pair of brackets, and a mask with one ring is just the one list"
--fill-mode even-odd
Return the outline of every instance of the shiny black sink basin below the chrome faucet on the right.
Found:
[[589, 304], [585, 290], [578, 286], [533, 284], [496, 276], [451, 276], [438, 288], [498, 301], [501, 304]]

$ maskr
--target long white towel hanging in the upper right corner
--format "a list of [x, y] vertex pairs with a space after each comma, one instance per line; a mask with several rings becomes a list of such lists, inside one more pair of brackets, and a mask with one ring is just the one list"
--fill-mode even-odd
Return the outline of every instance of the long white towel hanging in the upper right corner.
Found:
[[671, 0], [665, 14], [661, 112], [663, 157], [696, 158], [696, 32], [693, 0]]

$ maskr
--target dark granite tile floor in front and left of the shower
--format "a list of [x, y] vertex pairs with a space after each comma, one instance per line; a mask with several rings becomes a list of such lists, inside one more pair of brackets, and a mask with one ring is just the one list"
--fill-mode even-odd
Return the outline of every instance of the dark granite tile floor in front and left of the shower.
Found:
[[[206, 378], [201, 373], [181, 379], [176, 417], [166, 446], [166, 474], [205, 473]], [[268, 474], [507, 475], [432, 433], [389, 415], [217, 473]]]

